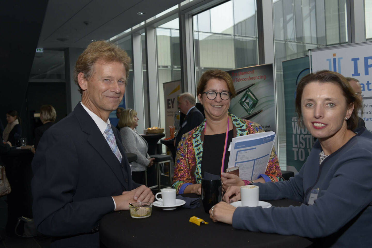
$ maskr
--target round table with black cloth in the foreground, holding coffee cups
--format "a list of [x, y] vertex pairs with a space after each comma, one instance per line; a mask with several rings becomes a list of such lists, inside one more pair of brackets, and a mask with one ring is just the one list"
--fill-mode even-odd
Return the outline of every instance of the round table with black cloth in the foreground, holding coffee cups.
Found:
[[[188, 194], [187, 194], [188, 195]], [[185, 196], [185, 195], [184, 195]], [[268, 201], [273, 206], [298, 206], [291, 200]], [[209, 224], [197, 226], [189, 222], [196, 216]], [[129, 211], [113, 212], [100, 222], [101, 247], [308, 247], [312, 242], [295, 235], [249, 232], [214, 223], [203, 206], [196, 209], [178, 207], [163, 210], [153, 206], [149, 218], [133, 219]]]

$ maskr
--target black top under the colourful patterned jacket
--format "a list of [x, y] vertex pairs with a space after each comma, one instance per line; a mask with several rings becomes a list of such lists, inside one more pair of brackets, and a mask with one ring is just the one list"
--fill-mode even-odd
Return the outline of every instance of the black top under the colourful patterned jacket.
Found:
[[[204, 135], [203, 144], [203, 157], [202, 157], [202, 177], [204, 177], [204, 171], [220, 175], [221, 174], [221, 162], [222, 155], [224, 153], [226, 133], [219, 133], [214, 135]], [[227, 137], [227, 148], [224, 163], [224, 172], [228, 168], [230, 152], [227, 151], [232, 141], [232, 129], [229, 131]]]

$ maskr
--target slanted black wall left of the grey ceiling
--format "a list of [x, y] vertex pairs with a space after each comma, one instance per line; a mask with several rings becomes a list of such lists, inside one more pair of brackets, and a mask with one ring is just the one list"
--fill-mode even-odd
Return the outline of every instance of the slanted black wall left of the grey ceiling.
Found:
[[1, 1], [0, 120], [4, 126], [8, 110], [17, 110], [22, 120], [28, 118], [26, 90], [47, 4], [48, 0]]

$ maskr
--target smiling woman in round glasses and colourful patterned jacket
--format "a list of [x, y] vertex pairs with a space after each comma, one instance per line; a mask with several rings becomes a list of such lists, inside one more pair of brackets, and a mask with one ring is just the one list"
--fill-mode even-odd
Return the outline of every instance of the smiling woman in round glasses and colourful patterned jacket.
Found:
[[265, 174], [255, 180], [241, 180], [224, 173], [228, 167], [232, 138], [264, 132], [262, 126], [243, 120], [228, 112], [230, 102], [236, 96], [230, 75], [221, 70], [208, 70], [201, 76], [197, 88], [199, 102], [204, 107], [205, 120], [185, 133], [178, 145], [174, 168], [173, 187], [177, 193], [201, 194], [204, 173], [221, 175], [222, 189], [243, 186], [254, 182], [282, 181], [278, 158], [273, 148]]

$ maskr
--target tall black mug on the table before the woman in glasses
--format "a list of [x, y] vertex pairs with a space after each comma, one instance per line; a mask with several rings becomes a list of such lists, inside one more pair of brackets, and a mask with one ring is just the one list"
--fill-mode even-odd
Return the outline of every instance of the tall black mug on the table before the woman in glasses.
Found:
[[221, 179], [205, 180], [202, 179], [202, 202], [206, 213], [215, 204], [222, 201], [222, 184]]

